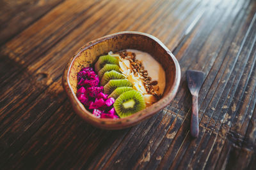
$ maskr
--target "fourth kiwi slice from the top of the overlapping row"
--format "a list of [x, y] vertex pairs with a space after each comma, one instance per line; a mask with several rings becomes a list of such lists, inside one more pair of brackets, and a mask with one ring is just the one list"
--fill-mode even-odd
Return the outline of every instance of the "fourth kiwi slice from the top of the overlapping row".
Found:
[[104, 85], [104, 93], [111, 94], [118, 87], [132, 87], [132, 83], [127, 79], [109, 80]]

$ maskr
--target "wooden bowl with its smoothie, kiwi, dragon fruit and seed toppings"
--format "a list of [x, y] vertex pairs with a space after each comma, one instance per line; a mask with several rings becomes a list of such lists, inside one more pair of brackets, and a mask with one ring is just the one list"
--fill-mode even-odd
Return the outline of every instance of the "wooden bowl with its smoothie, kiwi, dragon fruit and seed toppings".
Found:
[[65, 67], [62, 83], [74, 111], [86, 122], [124, 129], [172, 101], [180, 66], [156, 37], [118, 32], [80, 48]]

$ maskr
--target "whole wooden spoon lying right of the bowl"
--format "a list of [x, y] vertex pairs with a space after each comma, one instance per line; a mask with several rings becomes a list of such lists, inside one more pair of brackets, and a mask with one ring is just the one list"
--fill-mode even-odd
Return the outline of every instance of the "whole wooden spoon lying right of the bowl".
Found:
[[193, 138], [198, 136], [198, 93], [204, 82], [204, 72], [196, 70], [186, 71], [186, 78], [188, 82], [188, 88], [192, 95], [192, 113], [190, 134]]

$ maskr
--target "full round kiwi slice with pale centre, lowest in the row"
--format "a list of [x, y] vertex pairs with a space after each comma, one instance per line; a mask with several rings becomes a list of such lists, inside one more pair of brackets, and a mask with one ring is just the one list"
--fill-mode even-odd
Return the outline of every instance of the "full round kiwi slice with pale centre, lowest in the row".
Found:
[[123, 92], [114, 103], [115, 111], [120, 118], [128, 117], [145, 107], [142, 94], [136, 90]]

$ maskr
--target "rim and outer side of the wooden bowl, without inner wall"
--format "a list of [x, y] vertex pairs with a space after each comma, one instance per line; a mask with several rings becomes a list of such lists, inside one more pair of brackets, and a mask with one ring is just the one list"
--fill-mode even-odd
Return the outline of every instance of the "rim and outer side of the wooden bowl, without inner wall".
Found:
[[[138, 111], [137, 113], [134, 113], [133, 115], [125, 118], [118, 118], [118, 119], [97, 118], [94, 115], [92, 115], [90, 111], [86, 110], [83, 104], [77, 99], [76, 94], [74, 93], [74, 90], [72, 89], [69, 81], [70, 69], [72, 67], [74, 60], [76, 60], [76, 58], [84, 50], [90, 48], [93, 45], [96, 45], [97, 43], [100, 43], [107, 39], [111, 39], [115, 36], [119, 36], [123, 34], [137, 34], [140, 36], [146, 36], [147, 38], [150, 38], [153, 41], [156, 41], [156, 43], [158, 43], [166, 51], [166, 53], [168, 53], [168, 55], [170, 56], [170, 59], [173, 60], [173, 63], [175, 65], [175, 79], [173, 81], [173, 85], [171, 89], [168, 91], [166, 96], [162, 97], [159, 101], [152, 104], [148, 108]], [[62, 84], [63, 84], [63, 88], [67, 92], [68, 99], [70, 99], [70, 103], [72, 104], [73, 109], [81, 118], [86, 120], [86, 122], [89, 122], [103, 129], [124, 129], [125, 127], [130, 127], [132, 125], [138, 124], [139, 122], [145, 120], [146, 118], [151, 117], [157, 111], [167, 106], [177, 94], [177, 91], [179, 89], [179, 83], [180, 83], [180, 74], [181, 73], [180, 73], [179, 62], [177, 61], [173, 53], [170, 52], [170, 50], [158, 38], [144, 32], [122, 31], [122, 32], [116, 32], [115, 34], [109, 34], [101, 38], [97, 38], [93, 41], [86, 43], [86, 45], [84, 45], [83, 47], [79, 48], [79, 50], [77, 50], [77, 52], [73, 55], [73, 57], [70, 60], [68, 60], [67, 66], [65, 67], [63, 76], [62, 76]], [[161, 103], [161, 106], [156, 106], [157, 103]], [[120, 127], [120, 124], [122, 124], [122, 127]]]

